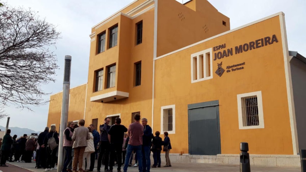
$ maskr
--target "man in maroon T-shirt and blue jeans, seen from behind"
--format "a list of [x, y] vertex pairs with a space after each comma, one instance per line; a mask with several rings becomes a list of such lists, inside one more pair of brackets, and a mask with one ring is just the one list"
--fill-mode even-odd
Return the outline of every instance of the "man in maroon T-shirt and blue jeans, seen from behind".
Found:
[[126, 172], [129, 166], [129, 159], [131, 157], [132, 151], [136, 152], [137, 159], [138, 159], [138, 170], [142, 172], [142, 155], [141, 155], [141, 148], [142, 148], [142, 136], [144, 135], [144, 126], [140, 124], [140, 114], [136, 114], [134, 116], [135, 122], [129, 125], [128, 129], [128, 137], [129, 143], [128, 147], [126, 148], [126, 157], [124, 162], [123, 171]]

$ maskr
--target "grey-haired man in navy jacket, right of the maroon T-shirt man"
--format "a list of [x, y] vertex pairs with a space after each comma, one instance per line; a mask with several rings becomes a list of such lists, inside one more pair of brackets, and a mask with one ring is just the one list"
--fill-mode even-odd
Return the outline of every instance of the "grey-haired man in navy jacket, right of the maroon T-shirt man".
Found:
[[142, 136], [142, 167], [143, 172], [150, 172], [150, 149], [153, 138], [152, 129], [149, 125], [147, 125], [147, 118], [142, 118], [141, 123], [144, 126], [144, 135]]

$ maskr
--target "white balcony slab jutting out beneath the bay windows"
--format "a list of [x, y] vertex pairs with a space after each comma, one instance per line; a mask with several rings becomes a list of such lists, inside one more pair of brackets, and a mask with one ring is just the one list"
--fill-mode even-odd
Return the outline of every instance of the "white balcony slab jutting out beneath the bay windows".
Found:
[[108, 92], [101, 95], [96, 95], [90, 98], [91, 102], [100, 102], [100, 103], [106, 103], [114, 100], [124, 99], [128, 98], [129, 93], [128, 92], [121, 92], [121, 91], [114, 91], [114, 92]]

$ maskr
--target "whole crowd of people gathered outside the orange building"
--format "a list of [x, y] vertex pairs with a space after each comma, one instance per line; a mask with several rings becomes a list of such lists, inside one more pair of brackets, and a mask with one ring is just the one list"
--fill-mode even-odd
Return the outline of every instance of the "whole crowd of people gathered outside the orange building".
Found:
[[[100, 133], [93, 124], [85, 127], [83, 119], [79, 120], [78, 125], [68, 122], [63, 133], [65, 160], [62, 172], [93, 171], [95, 159], [98, 159], [98, 172], [102, 164], [106, 172], [112, 172], [115, 164], [117, 172], [121, 172], [122, 165], [125, 172], [129, 166], [132, 166], [133, 154], [135, 154], [134, 166], [138, 166], [140, 172], [150, 172], [150, 168], [161, 167], [161, 151], [165, 151], [164, 167], [171, 166], [169, 159], [171, 142], [168, 133], [164, 132], [165, 138], [162, 140], [159, 131], [153, 136], [146, 118], [142, 118], [140, 124], [140, 115], [136, 114], [134, 120], [135, 122], [127, 129], [121, 125], [120, 118], [116, 118], [112, 126], [109, 125], [110, 118], [105, 118], [104, 124], [99, 126]], [[0, 139], [0, 166], [7, 166], [6, 160], [31, 163], [33, 157], [36, 168], [44, 168], [45, 171], [57, 169], [59, 134], [55, 125], [46, 127], [37, 139], [24, 134], [16, 140], [17, 136], [11, 137], [10, 133], [11, 130], [8, 129], [2, 142]], [[151, 151], [154, 159], [152, 166]]]

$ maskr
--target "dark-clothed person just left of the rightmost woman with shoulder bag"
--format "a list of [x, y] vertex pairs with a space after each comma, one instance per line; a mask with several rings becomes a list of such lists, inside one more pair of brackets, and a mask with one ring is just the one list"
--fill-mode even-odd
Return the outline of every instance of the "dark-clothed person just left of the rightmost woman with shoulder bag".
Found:
[[152, 141], [152, 152], [153, 152], [153, 159], [154, 164], [152, 168], [160, 167], [161, 160], [160, 160], [160, 152], [162, 151], [162, 138], [159, 136], [159, 131], [155, 132], [155, 137]]

